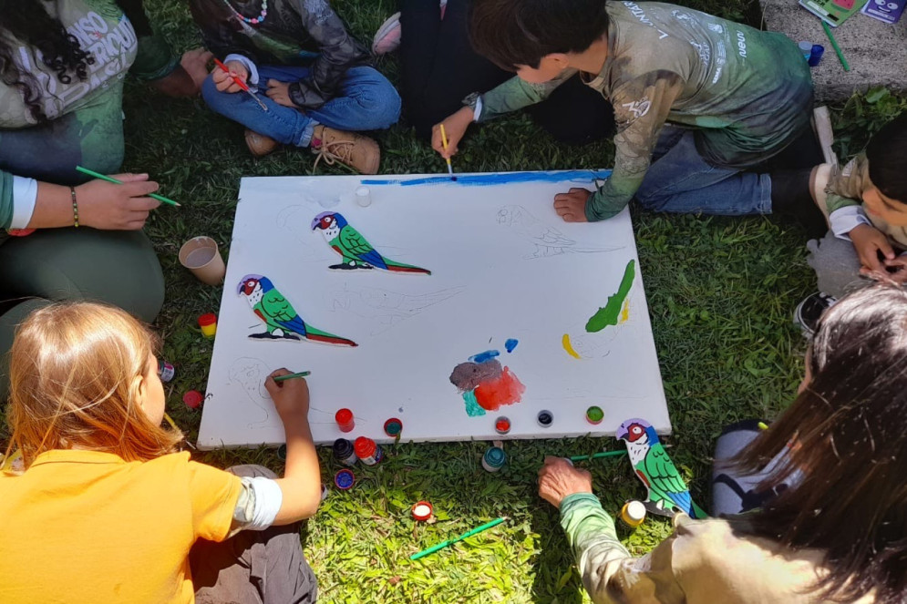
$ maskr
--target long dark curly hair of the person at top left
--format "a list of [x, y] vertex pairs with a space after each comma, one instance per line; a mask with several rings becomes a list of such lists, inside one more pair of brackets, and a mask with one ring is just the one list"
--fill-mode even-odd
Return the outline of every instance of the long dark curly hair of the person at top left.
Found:
[[56, 72], [63, 84], [88, 78], [88, 65], [95, 62], [69, 34], [60, 20], [47, 13], [46, 0], [0, 0], [0, 81], [18, 88], [31, 117], [46, 122], [41, 91], [36, 77], [19, 69], [14, 60], [16, 46], [25, 44], [41, 51], [44, 64]]

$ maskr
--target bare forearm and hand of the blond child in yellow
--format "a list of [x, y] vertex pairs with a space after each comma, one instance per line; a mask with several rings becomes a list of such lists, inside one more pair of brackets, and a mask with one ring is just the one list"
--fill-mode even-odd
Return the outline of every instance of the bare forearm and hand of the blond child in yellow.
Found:
[[274, 525], [312, 517], [321, 502], [321, 469], [308, 419], [309, 386], [304, 378], [274, 382], [275, 376], [287, 374], [290, 372], [286, 369], [279, 369], [264, 382], [286, 434], [286, 466], [283, 478], [275, 481], [283, 493], [283, 502]]

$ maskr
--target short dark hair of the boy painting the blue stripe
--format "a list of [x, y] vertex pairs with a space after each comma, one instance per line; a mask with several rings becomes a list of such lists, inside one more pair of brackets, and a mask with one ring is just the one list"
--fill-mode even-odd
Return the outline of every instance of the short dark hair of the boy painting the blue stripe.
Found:
[[604, 0], [473, 0], [473, 48], [508, 71], [539, 67], [542, 56], [580, 53], [608, 32]]

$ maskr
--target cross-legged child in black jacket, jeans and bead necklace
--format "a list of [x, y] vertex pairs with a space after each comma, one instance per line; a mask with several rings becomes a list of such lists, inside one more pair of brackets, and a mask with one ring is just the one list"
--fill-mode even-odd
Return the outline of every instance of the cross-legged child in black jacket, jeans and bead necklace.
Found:
[[326, 0], [191, 0], [190, 7], [206, 46], [231, 72], [211, 71], [202, 86], [205, 102], [247, 128], [255, 157], [280, 144], [311, 147], [315, 165], [324, 158], [376, 173], [376, 142], [345, 130], [389, 128], [399, 118], [400, 97], [367, 67], [366, 48]]

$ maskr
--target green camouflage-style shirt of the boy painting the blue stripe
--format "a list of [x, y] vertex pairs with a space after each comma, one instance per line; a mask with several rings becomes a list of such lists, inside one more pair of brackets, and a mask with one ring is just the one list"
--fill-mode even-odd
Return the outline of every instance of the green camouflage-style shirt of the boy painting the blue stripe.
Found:
[[[812, 80], [796, 44], [691, 8], [608, 2], [608, 57], [581, 74], [614, 107], [614, 171], [589, 220], [624, 209], [643, 182], [665, 123], [695, 128], [710, 163], [747, 168], [785, 148], [809, 124]], [[532, 86], [512, 78], [482, 97], [479, 120], [537, 103], [575, 71]]]

